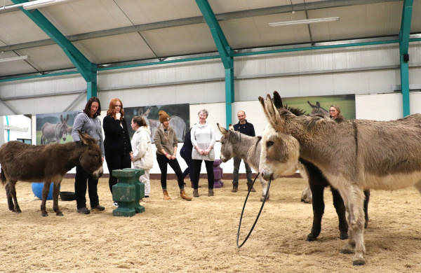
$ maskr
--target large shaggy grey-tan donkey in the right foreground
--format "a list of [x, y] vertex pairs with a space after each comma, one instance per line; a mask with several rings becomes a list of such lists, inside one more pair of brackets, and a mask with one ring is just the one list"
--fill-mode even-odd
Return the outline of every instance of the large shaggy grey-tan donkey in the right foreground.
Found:
[[363, 190], [415, 186], [421, 193], [421, 115], [389, 122], [335, 123], [328, 118], [293, 115], [283, 108], [277, 92], [274, 102], [278, 109], [269, 94], [266, 99], [259, 97], [259, 101], [276, 130], [275, 134], [265, 132], [262, 139], [260, 171], [264, 179], [275, 179], [290, 168], [290, 162], [279, 158], [276, 146], [293, 137], [298, 142], [300, 158], [321, 169], [339, 190], [349, 224], [349, 241], [341, 252], [355, 253], [353, 265], [364, 265]]

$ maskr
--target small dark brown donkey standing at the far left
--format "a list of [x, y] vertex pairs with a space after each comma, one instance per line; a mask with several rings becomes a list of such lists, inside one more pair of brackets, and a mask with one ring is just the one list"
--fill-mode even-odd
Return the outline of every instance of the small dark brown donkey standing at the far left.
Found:
[[9, 141], [0, 147], [1, 183], [6, 184], [8, 207], [20, 213], [15, 184], [18, 181], [44, 182], [42, 189], [41, 215], [48, 216], [46, 201], [50, 184], [53, 187], [53, 209], [62, 216], [58, 208], [60, 183], [70, 169], [81, 166], [95, 179], [102, 176], [102, 152], [97, 140], [81, 134], [81, 141], [67, 144], [32, 146], [20, 141]]

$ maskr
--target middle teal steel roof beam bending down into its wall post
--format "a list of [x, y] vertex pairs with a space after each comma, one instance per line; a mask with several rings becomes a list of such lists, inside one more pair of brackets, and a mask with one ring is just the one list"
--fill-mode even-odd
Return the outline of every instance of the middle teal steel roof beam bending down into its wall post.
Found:
[[228, 126], [229, 123], [232, 123], [232, 103], [234, 102], [234, 59], [232, 57], [234, 50], [229, 46], [208, 0], [196, 0], [196, 3], [208, 24], [210, 34], [213, 36], [213, 41], [215, 41], [225, 68], [225, 115]]

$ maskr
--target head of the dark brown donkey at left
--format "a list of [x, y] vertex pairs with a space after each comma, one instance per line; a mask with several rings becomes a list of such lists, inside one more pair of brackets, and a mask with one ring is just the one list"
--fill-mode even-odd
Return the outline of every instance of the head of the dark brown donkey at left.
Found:
[[94, 179], [99, 179], [102, 176], [104, 170], [102, 169], [102, 151], [100, 146], [97, 144], [97, 140], [89, 137], [88, 134], [81, 134], [78, 131], [79, 137], [81, 138], [81, 145], [83, 146], [83, 152], [79, 157], [79, 165], [85, 169], [88, 174], [91, 174]]

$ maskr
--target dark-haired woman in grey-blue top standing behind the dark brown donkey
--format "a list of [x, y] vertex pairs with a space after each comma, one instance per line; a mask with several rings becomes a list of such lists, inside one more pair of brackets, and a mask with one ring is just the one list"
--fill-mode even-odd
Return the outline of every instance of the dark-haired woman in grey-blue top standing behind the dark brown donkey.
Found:
[[[98, 116], [101, 113], [101, 104], [98, 97], [91, 97], [86, 103], [85, 109], [79, 112], [74, 118], [72, 137], [73, 141], [80, 141], [78, 130], [81, 133], [88, 133], [90, 137], [98, 139], [98, 145], [102, 150], [102, 163], [104, 163], [104, 143], [102, 141], [101, 122]], [[86, 186], [88, 181], [88, 186]], [[77, 212], [80, 214], [90, 214], [91, 211], [86, 207], [86, 188], [88, 188], [89, 201], [91, 209], [103, 211], [105, 208], [100, 206], [98, 198], [98, 179], [88, 174], [82, 167], [76, 166], [76, 177], [74, 178], [74, 193], [76, 195]]]

